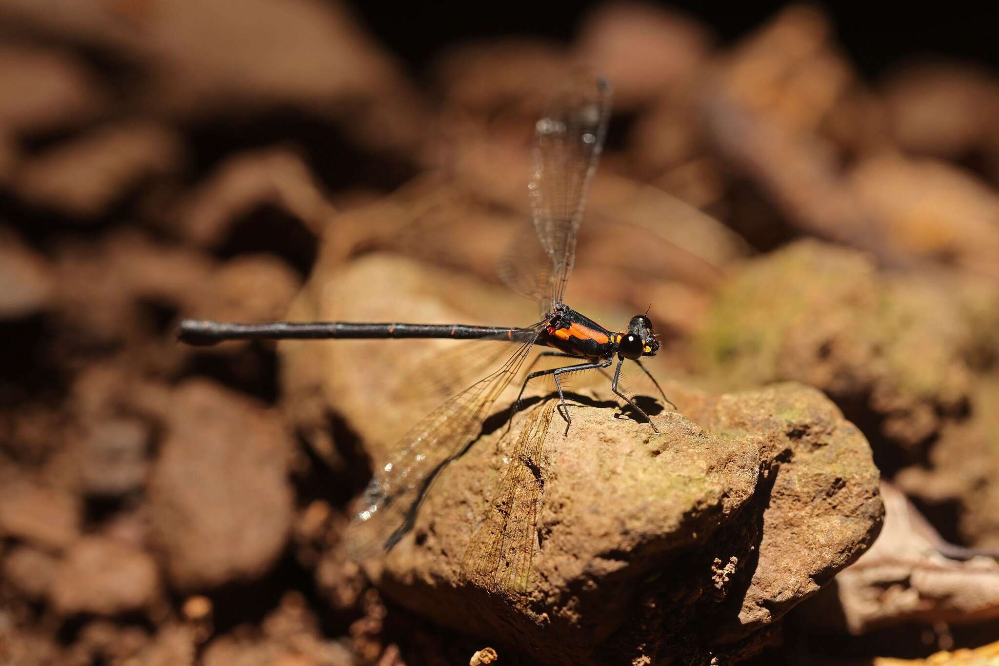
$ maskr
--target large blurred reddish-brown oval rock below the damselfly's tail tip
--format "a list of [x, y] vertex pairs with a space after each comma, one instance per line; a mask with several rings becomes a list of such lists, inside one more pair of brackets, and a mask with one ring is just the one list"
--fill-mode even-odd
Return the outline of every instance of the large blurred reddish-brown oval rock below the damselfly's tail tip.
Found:
[[203, 380], [177, 388], [169, 409], [148, 492], [171, 580], [190, 590], [262, 575], [293, 518], [289, 433], [273, 411]]

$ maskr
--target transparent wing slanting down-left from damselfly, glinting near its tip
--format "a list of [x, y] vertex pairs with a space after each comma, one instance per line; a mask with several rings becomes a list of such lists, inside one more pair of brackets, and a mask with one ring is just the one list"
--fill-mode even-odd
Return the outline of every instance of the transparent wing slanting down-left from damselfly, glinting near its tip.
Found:
[[400, 439], [389, 459], [376, 467], [348, 527], [352, 557], [361, 560], [381, 554], [409, 530], [434, 478], [479, 433], [533, 341], [520, 344], [498, 370], [425, 416]]

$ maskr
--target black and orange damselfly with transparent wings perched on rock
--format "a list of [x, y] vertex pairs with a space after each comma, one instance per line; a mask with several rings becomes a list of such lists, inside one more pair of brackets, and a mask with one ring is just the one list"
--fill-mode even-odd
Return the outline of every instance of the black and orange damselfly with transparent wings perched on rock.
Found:
[[[519, 372], [531, 348], [554, 350], [539, 355], [576, 359], [560, 367], [528, 372], [512, 405], [515, 411], [531, 379], [551, 375], [558, 391], [557, 408], [568, 433], [572, 422], [562, 392], [561, 377], [570, 372], [609, 367], [617, 359], [610, 389], [651, 425], [648, 414], [618, 390], [621, 365], [630, 360], [651, 378], [663, 400], [673, 408], [655, 378], [641, 363], [659, 349], [646, 315], [631, 318], [626, 331], [603, 328], [564, 303], [562, 296], [575, 259], [575, 240], [582, 222], [589, 183], [603, 148], [610, 110], [610, 86], [592, 75], [573, 78], [548, 105], [534, 127], [533, 165], [528, 185], [533, 229], [539, 252], [526, 251], [506, 262], [500, 277], [514, 291], [537, 300], [543, 317], [527, 327], [466, 325], [367, 324], [346, 322], [228, 324], [186, 320], [180, 337], [193, 344], [228, 339], [287, 338], [404, 338], [507, 340], [517, 344], [498, 370], [477, 381], [432, 411], [398, 442], [389, 459], [376, 467], [358, 500], [348, 539], [357, 557], [391, 548], [412, 525], [424, 493], [437, 474], [482, 428], [500, 393]], [[529, 368], [528, 368], [529, 369]], [[511, 414], [512, 415], [512, 414]], [[543, 437], [543, 431], [531, 436]]]

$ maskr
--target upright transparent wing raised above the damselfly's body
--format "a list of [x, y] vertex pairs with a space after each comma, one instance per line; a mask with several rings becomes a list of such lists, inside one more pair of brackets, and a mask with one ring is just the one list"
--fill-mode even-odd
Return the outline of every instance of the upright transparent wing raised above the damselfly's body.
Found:
[[575, 258], [589, 182], [606, 134], [610, 86], [580, 74], [549, 103], [534, 126], [528, 195], [534, 231], [551, 260], [547, 312], [561, 302]]

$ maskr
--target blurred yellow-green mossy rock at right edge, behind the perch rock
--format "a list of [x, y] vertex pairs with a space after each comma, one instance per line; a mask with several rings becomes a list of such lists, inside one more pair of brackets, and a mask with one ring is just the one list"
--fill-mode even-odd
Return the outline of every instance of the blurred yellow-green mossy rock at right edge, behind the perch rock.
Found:
[[868, 256], [805, 241], [747, 262], [705, 322], [698, 367], [718, 385], [825, 390], [867, 425], [882, 470], [929, 504], [957, 505], [951, 538], [996, 542], [994, 284], [878, 271]]

